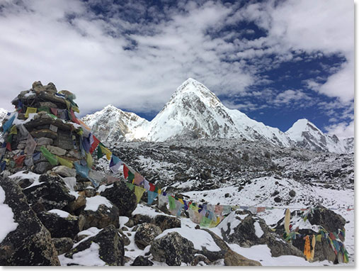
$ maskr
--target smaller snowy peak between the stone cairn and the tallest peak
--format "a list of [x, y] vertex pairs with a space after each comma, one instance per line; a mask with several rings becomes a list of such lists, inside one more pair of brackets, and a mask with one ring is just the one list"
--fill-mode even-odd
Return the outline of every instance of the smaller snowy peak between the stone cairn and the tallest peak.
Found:
[[103, 143], [136, 140], [148, 121], [131, 112], [108, 105], [103, 110], [82, 118]]

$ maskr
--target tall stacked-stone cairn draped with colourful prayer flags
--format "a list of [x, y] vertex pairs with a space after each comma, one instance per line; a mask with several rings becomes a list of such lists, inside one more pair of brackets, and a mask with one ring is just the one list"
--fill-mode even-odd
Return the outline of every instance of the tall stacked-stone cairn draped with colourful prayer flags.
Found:
[[[4, 133], [0, 150], [0, 157], [3, 156], [1, 170], [6, 168], [11, 173], [30, 170], [43, 174], [54, 167], [57, 167], [55, 171], [64, 170], [64, 165], [67, 165], [64, 175], [75, 177], [76, 170], [70, 168], [73, 162], [86, 159], [86, 153], [80, 148], [81, 138], [91, 132], [74, 115], [74, 112], [79, 113], [75, 98], [67, 90], [57, 92], [55, 84], [42, 86], [41, 82], [34, 82], [31, 89], [18, 94], [11, 102], [16, 112], [2, 123], [4, 133], [6, 122], [11, 120], [11, 116], [15, 117], [11, 126], [8, 122]], [[47, 159], [43, 148], [45, 153], [47, 150], [58, 157], [57, 162]]]

